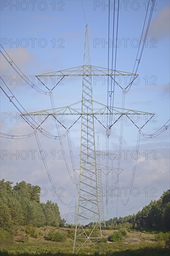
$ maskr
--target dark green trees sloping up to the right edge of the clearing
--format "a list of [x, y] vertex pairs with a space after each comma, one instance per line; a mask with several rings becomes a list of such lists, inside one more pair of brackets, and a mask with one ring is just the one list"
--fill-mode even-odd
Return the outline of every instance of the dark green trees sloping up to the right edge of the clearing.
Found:
[[170, 189], [156, 201], [151, 201], [135, 215], [115, 217], [106, 221], [106, 227], [135, 228], [144, 230], [170, 231]]

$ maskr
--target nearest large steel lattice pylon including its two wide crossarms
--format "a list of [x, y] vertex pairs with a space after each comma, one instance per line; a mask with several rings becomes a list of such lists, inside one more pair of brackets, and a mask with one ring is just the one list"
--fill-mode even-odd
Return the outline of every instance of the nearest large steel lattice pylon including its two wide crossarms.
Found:
[[[48, 76], [58, 76], [62, 77], [62, 79], [63, 77], [67, 76], [82, 76], [82, 100], [66, 107], [53, 108], [38, 112], [32, 112], [29, 114], [24, 114], [47, 116], [81, 116], [81, 145], [78, 189], [79, 198], [76, 216], [76, 232], [73, 249], [74, 253], [77, 253], [86, 243], [91, 243], [95, 245], [96, 243], [101, 242], [102, 239], [101, 221], [103, 221], [103, 201], [101, 199], [102, 189], [99, 189], [101, 187], [101, 168], [99, 168], [99, 159], [97, 159], [98, 156], [96, 156], [97, 154], [95, 150], [94, 116], [99, 114], [107, 116], [119, 115], [117, 119], [118, 121], [122, 115], [151, 115], [151, 113], [106, 106], [93, 100], [92, 76], [110, 76], [113, 79], [113, 76], [117, 75], [137, 76], [137, 74], [131, 74], [118, 70], [92, 66], [90, 64], [88, 25], [86, 25], [83, 66], [72, 67], [69, 69], [37, 75], [37, 77], [39, 78]], [[95, 108], [93, 104], [95, 104]], [[80, 105], [81, 108], [79, 107]], [[75, 108], [75, 106], [78, 108]], [[99, 107], [96, 108], [96, 106]], [[66, 129], [67, 131], [69, 130], [69, 128]], [[106, 130], [108, 132], [107, 128]], [[103, 167], [103, 169], [105, 168]], [[93, 222], [93, 227], [90, 230], [90, 232], [89, 230], [87, 231], [85, 229], [85, 225], [88, 224], [89, 222]]]

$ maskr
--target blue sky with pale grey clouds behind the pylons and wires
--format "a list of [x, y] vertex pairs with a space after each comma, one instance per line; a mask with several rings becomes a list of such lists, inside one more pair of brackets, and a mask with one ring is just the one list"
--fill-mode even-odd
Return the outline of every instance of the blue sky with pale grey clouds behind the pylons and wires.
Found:
[[[116, 5], [117, 5], [116, 1]], [[121, 1], [119, 11], [119, 29], [116, 69], [132, 73], [139, 40], [141, 37], [148, 1]], [[110, 1], [110, 41], [112, 42], [113, 1]], [[91, 65], [106, 67], [108, 63], [108, 1], [63, 0], [63, 1], [1, 1], [1, 45], [19, 69], [33, 82], [38, 89], [31, 88], [6, 61], [10, 61], [1, 47], [1, 87], [16, 105], [9, 101], [1, 90], [1, 133], [8, 135], [31, 135], [33, 129], [20, 117], [19, 110], [36, 112], [51, 109], [49, 89], [59, 81], [57, 78], [42, 80], [41, 84], [35, 75], [62, 70], [83, 65], [83, 51], [86, 21], [88, 23]], [[151, 4], [149, 9], [151, 9]], [[117, 8], [115, 7], [115, 10]], [[117, 12], [116, 12], [117, 13]], [[139, 64], [139, 77], [126, 94], [125, 108], [155, 113], [142, 132], [152, 134], [161, 128], [169, 119], [169, 88], [170, 88], [170, 6], [168, 0], [157, 0], [146, 38], [143, 55]], [[115, 51], [115, 41], [113, 40]], [[109, 53], [111, 56], [112, 46]], [[13, 64], [14, 65], [14, 64]], [[111, 68], [111, 57], [109, 67]], [[129, 79], [129, 78], [127, 78]], [[124, 77], [120, 78], [122, 88], [126, 87]], [[109, 81], [110, 83], [110, 81]], [[8, 88], [7, 88], [7, 87]], [[46, 94], [40, 93], [43, 90]], [[52, 91], [55, 108], [69, 106], [81, 100], [82, 78], [65, 78]], [[121, 107], [122, 90], [115, 88], [114, 106]], [[101, 78], [93, 79], [93, 98], [107, 105], [107, 81]], [[19, 105], [20, 104], [20, 105]], [[23, 107], [23, 108], [22, 108]], [[132, 116], [132, 121], [138, 126], [150, 118], [148, 115]], [[99, 117], [101, 123], [106, 118]], [[30, 118], [31, 120], [31, 118]], [[34, 124], [38, 125], [44, 117], [35, 117]], [[61, 123], [69, 128], [77, 117], [62, 116]], [[80, 119], [81, 120], [81, 119]], [[75, 167], [79, 168], [80, 129], [81, 121], [69, 129]], [[106, 164], [106, 130], [95, 121], [95, 141], [99, 136], [101, 164]], [[42, 128], [48, 133], [58, 136], [56, 123], [52, 117], [44, 121]], [[62, 216], [68, 222], [74, 222], [75, 205], [78, 202], [77, 190], [71, 164], [66, 129], [59, 125], [62, 141], [44, 136], [37, 132], [44, 152], [46, 167], [41, 159], [40, 148], [35, 135], [25, 139], [17, 137], [1, 137], [0, 178], [5, 180], [39, 185], [41, 201], [57, 202]], [[127, 216], [137, 213], [151, 200], [157, 200], [170, 187], [169, 173], [169, 131], [155, 138], [141, 136], [138, 151], [138, 161], [132, 184], [131, 196], [128, 196], [138, 137], [138, 128], [127, 118], [124, 122], [121, 152], [120, 122], [117, 122], [109, 137], [111, 160], [109, 166], [117, 167], [120, 161], [121, 173], [117, 176], [114, 170], [106, 175], [103, 170], [103, 200], [106, 219], [115, 216]], [[20, 138], [20, 137], [19, 137]], [[61, 148], [61, 144], [62, 147]], [[66, 158], [63, 158], [64, 149]], [[118, 155], [120, 154], [120, 155]], [[114, 158], [114, 159], [113, 159]], [[69, 172], [66, 168], [68, 163]], [[78, 171], [76, 171], [78, 172]], [[54, 194], [49, 176], [59, 193]], [[71, 178], [70, 178], [71, 176]], [[108, 177], [108, 184], [106, 182]], [[119, 177], [119, 178], [118, 178]], [[118, 182], [117, 182], [118, 178]], [[117, 189], [115, 189], [117, 188]], [[117, 195], [117, 196], [116, 196]], [[106, 203], [107, 197], [107, 203]], [[60, 199], [60, 200], [59, 200]], [[68, 206], [66, 206], [68, 205]]]

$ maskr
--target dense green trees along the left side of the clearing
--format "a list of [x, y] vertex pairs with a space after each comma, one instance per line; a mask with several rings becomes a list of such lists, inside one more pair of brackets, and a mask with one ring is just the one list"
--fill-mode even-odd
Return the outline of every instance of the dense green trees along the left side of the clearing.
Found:
[[12, 233], [17, 226], [64, 226], [57, 203], [40, 202], [40, 187], [25, 181], [0, 181], [0, 228]]

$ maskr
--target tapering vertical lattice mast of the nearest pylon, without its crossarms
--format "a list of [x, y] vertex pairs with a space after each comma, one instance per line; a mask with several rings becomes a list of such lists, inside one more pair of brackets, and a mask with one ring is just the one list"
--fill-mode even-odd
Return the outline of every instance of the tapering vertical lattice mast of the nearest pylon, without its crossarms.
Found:
[[[95, 244], [102, 238], [101, 220], [98, 201], [97, 163], [94, 140], [94, 115], [92, 96], [92, 76], [88, 41], [88, 25], [86, 25], [84, 62], [82, 77], [82, 126], [79, 172], [79, 201], [77, 209], [76, 233], [73, 252], [86, 243]], [[86, 220], [86, 222], [84, 222]], [[94, 222], [93, 229], [87, 234], [81, 222]]]

